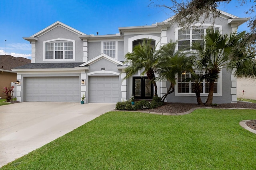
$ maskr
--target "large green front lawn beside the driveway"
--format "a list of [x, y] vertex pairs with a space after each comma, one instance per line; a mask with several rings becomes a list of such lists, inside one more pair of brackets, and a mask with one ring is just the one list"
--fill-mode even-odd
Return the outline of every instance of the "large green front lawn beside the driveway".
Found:
[[182, 116], [109, 112], [2, 169], [255, 169], [255, 110]]

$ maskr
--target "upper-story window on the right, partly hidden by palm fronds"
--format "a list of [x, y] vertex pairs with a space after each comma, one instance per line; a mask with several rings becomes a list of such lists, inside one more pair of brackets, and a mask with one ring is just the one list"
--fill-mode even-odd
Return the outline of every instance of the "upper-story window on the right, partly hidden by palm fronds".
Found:
[[[214, 30], [218, 30], [218, 28], [214, 27]], [[188, 29], [178, 30], [178, 49], [190, 51], [192, 43], [200, 43], [204, 44], [204, 36], [206, 35], [207, 28], [200, 29]]]

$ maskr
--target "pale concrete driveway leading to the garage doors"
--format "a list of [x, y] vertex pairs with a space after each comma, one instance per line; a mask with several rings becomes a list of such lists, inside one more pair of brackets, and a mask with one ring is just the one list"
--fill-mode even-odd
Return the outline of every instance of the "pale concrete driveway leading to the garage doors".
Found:
[[115, 106], [41, 102], [0, 106], [0, 167], [112, 111]]

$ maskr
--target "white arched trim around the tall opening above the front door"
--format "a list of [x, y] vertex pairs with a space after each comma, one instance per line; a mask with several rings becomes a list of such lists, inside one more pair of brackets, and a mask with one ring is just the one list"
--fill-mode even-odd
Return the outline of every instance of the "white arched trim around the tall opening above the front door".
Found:
[[160, 37], [158, 36], [152, 36], [148, 34], [143, 34], [143, 35], [138, 35], [134, 36], [128, 39], [128, 52], [132, 53], [132, 42], [135, 40], [140, 40], [140, 39], [152, 39], [156, 41], [156, 50], [160, 49]]

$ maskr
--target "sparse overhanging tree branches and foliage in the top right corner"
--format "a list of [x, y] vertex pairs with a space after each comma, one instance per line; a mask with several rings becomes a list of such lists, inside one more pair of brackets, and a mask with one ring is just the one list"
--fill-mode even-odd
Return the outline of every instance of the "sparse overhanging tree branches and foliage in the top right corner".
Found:
[[[232, 0], [169, 0], [170, 5], [166, 5], [165, 1], [150, 0], [152, 7], [167, 8], [170, 13], [174, 14], [170, 22], [178, 24], [182, 28], [193, 26], [195, 23], [200, 22], [203, 24], [209, 17], [215, 18], [220, 16], [220, 11], [217, 9], [221, 3], [228, 3]], [[233, 0], [234, 1], [234, 0]], [[246, 34], [247, 49], [255, 56], [256, 52], [256, 0], [236, 0], [240, 6], [250, 4], [250, 8], [246, 14], [250, 15], [248, 27], [250, 33]], [[210, 15], [211, 14], [211, 15]], [[202, 17], [202, 18], [201, 18]]]

